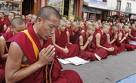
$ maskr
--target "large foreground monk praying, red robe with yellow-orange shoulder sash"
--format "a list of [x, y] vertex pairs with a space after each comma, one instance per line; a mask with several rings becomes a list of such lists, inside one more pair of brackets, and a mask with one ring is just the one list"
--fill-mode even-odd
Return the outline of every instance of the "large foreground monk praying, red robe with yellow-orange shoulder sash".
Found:
[[35, 24], [14, 37], [6, 62], [6, 83], [82, 83], [76, 72], [61, 70], [53, 45], [44, 47], [60, 19], [55, 8], [45, 6], [38, 12]]

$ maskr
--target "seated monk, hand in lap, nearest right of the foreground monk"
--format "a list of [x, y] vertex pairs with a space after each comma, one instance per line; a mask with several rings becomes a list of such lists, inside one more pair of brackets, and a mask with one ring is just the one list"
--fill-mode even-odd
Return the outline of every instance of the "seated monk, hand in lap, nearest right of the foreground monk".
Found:
[[70, 43], [69, 37], [65, 22], [61, 20], [59, 29], [56, 29], [53, 38], [53, 45], [57, 48], [56, 54], [59, 58], [69, 58], [78, 55], [79, 47], [77, 44]]

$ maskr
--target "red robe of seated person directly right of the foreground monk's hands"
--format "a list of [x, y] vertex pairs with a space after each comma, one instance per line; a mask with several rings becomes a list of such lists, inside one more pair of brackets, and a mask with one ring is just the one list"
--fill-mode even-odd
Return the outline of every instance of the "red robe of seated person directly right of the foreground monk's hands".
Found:
[[68, 44], [68, 36], [65, 31], [59, 31], [58, 29], [55, 31], [55, 37], [56, 37], [56, 44], [59, 45], [62, 48], [65, 48], [67, 46], [69, 53], [64, 53], [59, 48], [56, 50], [56, 54], [59, 58], [69, 58], [74, 57], [78, 55], [79, 47], [77, 44]]

